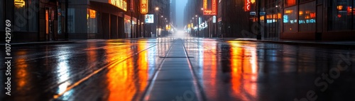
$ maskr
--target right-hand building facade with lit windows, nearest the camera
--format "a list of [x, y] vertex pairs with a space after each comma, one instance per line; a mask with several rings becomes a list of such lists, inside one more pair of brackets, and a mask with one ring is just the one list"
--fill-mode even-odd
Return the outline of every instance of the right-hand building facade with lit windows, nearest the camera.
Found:
[[[244, 0], [244, 4], [247, 1]], [[251, 3], [255, 12], [256, 3]], [[354, 0], [266, 0], [260, 16], [264, 38], [283, 40], [355, 40]], [[256, 22], [258, 17], [249, 18]], [[253, 30], [251, 30], [253, 31]]]

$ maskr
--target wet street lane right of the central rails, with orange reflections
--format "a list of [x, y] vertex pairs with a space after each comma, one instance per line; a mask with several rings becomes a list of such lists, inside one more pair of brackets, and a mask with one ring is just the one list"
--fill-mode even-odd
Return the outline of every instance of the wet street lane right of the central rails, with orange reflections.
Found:
[[353, 49], [206, 39], [186, 47], [190, 57], [200, 57], [191, 61], [207, 100], [355, 99]]

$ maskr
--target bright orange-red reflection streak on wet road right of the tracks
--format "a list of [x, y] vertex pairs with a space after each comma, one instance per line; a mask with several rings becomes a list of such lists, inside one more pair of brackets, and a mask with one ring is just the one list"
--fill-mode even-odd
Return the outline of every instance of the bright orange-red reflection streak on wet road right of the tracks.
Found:
[[231, 45], [231, 85], [234, 95], [241, 100], [256, 100], [258, 67], [256, 45], [229, 42]]

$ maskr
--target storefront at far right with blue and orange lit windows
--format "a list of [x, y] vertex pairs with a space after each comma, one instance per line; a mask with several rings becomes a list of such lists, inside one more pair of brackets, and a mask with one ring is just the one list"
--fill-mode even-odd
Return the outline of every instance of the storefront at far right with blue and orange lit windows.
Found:
[[281, 39], [355, 40], [355, 0], [285, 0]]

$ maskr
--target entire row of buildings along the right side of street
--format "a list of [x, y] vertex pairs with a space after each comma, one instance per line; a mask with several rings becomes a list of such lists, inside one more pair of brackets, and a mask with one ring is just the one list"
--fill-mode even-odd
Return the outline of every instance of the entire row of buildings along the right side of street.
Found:
[[[265, 39], [277, 40], [355, 40], [354, 2], [354, 0], [218, 0], [217, 25], [211, 23], [212, 16], [202, 16], [202, 23], [205, 21], [208, 24], [207, 28], [202, 27], [203, 30], [200, 31], [204, 32], [202, 37], [216, 37], [214, 34], [211, 35], [216, 31], [217, 37], [256, 38], [261, 34]], [[256, 4], [260, 4], [260, 7]], [[190, 23], [194, 36], [199, 36], [194, 30], [197, 30], [196, 24], [201, 23], [195, 15], [201, 15], [199, 11], [201, 7], [200, 0], [188, 1], [185, 7], [184, 22], [187, 29]]]

